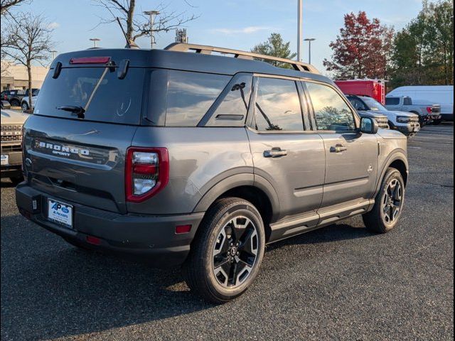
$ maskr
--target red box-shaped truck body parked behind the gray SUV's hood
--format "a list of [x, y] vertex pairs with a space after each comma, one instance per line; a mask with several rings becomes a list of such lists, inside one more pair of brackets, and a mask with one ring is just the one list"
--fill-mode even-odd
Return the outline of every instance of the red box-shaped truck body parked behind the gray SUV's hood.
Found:
[[385, 104], [385, 81], [384, 80], [336, 80], [336, 85], [343, 94], [356, 94], [376, 99]]

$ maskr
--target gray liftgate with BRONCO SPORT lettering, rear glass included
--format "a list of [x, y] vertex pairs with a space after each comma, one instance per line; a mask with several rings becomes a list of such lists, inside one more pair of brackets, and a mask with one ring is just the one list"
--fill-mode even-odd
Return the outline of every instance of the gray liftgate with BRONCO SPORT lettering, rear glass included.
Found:
[[50, 70], [25, 125], [31, 186], [60, 200], [127, 212], [124, 159], [141, 121], [144, 74], [130, 67], [119, 79], [115, 67], [77, 65], [55, 78]]

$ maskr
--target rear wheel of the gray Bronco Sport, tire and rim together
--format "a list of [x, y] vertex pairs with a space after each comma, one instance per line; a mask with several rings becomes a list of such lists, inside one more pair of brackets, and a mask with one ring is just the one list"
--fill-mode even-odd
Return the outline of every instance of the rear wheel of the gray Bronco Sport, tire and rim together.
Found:
[[[232, 228], [234, 222], [237, 236]], [[238, 197], [220, 199], [210, 207], [198, 228], [182, 266], [183, 276], [191, 291], [205, 300], [232, 301], [255, 280], [264, 246], [264, 224], [257, 209]]]

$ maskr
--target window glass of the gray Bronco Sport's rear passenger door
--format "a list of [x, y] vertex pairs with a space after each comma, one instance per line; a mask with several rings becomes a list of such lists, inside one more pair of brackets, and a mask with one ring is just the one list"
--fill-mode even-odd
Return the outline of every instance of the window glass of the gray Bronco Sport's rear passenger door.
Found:
[[260, 77], [255, 103], [258, 131], [302, 131], [299, 93], [293, 80]]

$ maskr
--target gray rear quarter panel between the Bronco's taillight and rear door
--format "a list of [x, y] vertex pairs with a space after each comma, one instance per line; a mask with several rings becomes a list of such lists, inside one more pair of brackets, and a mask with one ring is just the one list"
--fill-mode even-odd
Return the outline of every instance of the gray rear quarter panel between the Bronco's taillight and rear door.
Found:
[[245, 185], [254, 182], [252, 155], [244, 127], [141, 126], [134, 136], [133, 146], [167, 148], [169, 182], [149, 200], [128, 203], [129, 212], [156, 215], [190, 213], [203, 195], [222, 180], [245, 174], [251, 179]]

